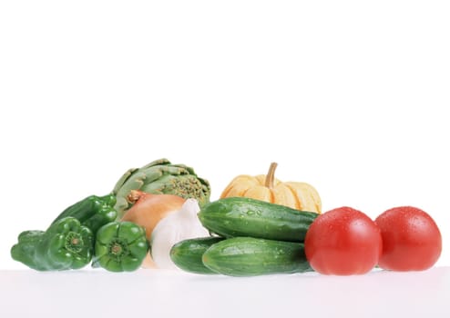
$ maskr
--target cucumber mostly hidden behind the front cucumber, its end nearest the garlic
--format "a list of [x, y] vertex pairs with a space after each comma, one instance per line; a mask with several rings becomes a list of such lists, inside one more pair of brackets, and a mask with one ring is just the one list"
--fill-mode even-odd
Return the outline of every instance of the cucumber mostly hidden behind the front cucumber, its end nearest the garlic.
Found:
[[201, 260], [203, 253], [214, 243], [223, 241], [223, 237], [210, 236], [183, 240], [170, 249], [170, 259], [180, 269], [189, 273], [216, 273]]

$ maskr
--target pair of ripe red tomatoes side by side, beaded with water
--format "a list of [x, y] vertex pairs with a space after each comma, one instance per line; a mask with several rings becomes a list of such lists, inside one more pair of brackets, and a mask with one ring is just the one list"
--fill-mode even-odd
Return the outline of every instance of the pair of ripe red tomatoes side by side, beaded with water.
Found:
[[398, 206], [374, 221], [348, 206], [320, 215], [305, 237], [305, 252], [314, 271], [350, 275], [375, 266], [393, 271], [423, 271], [442, 251], [442, 237], [429, 214]]

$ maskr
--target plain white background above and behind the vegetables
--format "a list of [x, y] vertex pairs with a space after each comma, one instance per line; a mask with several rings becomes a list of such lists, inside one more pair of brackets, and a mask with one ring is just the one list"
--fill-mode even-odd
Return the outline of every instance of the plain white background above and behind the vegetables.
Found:
[[2, 1], [0, 269], [67, 205], [167, 157], [414, 205], [450, 264], [447, 1]]

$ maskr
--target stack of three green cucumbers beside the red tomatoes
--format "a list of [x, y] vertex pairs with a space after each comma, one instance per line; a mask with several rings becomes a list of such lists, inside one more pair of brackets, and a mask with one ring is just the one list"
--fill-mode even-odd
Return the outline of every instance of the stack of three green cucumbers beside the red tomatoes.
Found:
[[223, 198], [199, 212], [201, 224], [219, 236], [177, 243], [170, 256], [192, 273], [252, 276], [311, 271], [303, 242], [317, 215], [246, 197]]

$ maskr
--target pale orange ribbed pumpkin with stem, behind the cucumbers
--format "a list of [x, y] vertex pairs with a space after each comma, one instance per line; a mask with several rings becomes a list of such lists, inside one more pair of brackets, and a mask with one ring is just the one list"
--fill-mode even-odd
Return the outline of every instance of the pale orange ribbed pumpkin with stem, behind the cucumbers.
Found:
[[276, 167], [277, 164], [272, 163], [267, 175], [238, 175], [225, 188], [220, 198], [245, 196], [320, 214], [322, 201], [316, 189], [306, 183], [282, 183], [274, 177]]

